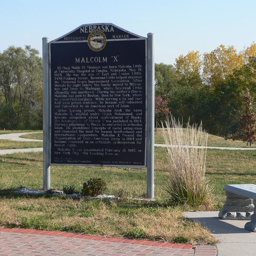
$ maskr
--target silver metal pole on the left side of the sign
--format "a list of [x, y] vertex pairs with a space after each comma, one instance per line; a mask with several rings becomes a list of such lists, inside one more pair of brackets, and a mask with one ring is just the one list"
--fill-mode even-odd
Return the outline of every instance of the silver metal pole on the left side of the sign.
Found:
[[49, 76], [49, 38], [43, 40], [43, 134], [44, 134], [44, 190], [50, 189], [50, 76]]

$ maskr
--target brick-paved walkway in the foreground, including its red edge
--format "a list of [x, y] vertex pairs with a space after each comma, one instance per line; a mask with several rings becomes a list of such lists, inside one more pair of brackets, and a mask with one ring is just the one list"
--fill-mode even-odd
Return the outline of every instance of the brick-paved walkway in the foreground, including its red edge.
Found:
[[0, 255], [216, 256], [216, 247], [104, 238], [58, 231], [0, 228]]

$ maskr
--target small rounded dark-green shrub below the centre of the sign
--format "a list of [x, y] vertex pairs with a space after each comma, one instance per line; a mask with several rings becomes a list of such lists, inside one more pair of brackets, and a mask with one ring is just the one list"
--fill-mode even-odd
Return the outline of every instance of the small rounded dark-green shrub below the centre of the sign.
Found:
[[91, 178], [84, 182], [82, 188], [82, 195], [84, 196], [98, 196], [103, 194], [107, 189], [106, 182], [101, 178]]

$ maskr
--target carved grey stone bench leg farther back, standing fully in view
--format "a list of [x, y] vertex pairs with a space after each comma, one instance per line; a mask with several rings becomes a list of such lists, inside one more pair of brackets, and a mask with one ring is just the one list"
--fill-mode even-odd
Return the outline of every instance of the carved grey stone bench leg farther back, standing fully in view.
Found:
[[[219, 212], [219, 217], [223, 220], [250, 220], [254, 211], [252, 199], [238, 196], [226, 191], [226, 203]], [[254, 212], [255, 214], [255, 212]]]

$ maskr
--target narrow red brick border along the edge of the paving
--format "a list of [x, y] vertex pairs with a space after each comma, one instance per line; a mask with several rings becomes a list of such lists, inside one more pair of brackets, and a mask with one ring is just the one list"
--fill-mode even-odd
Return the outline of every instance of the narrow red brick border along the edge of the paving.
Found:
[[144, 244], [149, 246], [163, 246], [163, 247], [171, 247], [171, 248], [182, 248], [182, 249], [192, 249], [195, 248], [193, 244], [172, 244], [172, 243], [164, 243], [164, 242], [156, 242], [150, 240], [132, 240], [126, 238], [106, 238], [102, 236], [92, 236], [85, 234], [74, 234], [69, 232], [61, 232], [61, 231], [47, 231], [47, 230], [36, 230], [32, 228], [3, 228], [0, 227], [0, 231], [4, 232], [14, 232], [14, 233], [25, 233], [25, 234], [38, 234], [45, 236], [63, 236], [63, 237], [72, 237], [72, 238], [81, 238], [81, 239], [91, 239], [91, 240], [100, 240], [106, 242], [120, 242], [120, 243], [128, 243], [128, 244]]

